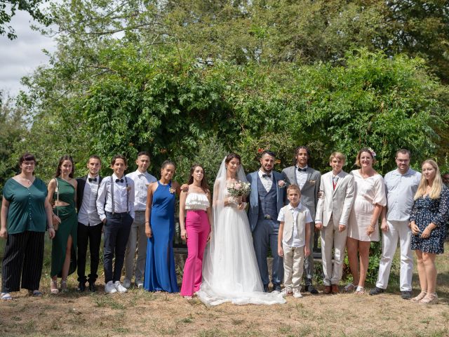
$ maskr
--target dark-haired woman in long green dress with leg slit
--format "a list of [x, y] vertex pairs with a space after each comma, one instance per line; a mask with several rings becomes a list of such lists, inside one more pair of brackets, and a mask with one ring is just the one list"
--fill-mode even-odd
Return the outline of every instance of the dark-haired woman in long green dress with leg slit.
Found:
[[56, 230], [51, 246], [51, 293], [58, 293], [58, 277], [61, 291], [67, 291], [67, 276], [76, 270], [76, 180], [74, 164], [70, 156], [62, 156], [55, 178], [48, 183], [48, 199], [54, 204], [53, 225]]

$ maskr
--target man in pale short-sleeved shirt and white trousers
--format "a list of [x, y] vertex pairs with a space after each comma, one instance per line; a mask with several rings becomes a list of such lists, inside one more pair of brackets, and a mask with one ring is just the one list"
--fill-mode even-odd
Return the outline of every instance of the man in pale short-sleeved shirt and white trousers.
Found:
[[388, 286], [391, 262], [396, 247], [401, 249], [400, 290], [403, 299], [412, 297], [413, 253], [410, 250], [412, 232], [408, 227], [413, 197], [420, 185], [421, 173], [410, 169], [410, 151], [396, 152], [398, 168], [384, 177], [387, 192], [387, 207], [382, 209], [382, 258], [379, 264], [379, 275], [370, 295], [383, 293]]

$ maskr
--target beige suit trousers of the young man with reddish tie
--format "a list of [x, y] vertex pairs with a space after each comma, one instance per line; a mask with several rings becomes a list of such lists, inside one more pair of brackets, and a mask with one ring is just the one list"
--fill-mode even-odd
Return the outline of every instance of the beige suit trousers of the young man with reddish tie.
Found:
[[[321, 230], [321, 259], [323, 261], [323, 283], [325, 286], [338, 284], [343, 275], [344, 249], [346, 248], [347, 229], [338, 231], [338, 223], [331, 217], [326, 227]], [[332, 263], [334, 249], [334, 263]]]

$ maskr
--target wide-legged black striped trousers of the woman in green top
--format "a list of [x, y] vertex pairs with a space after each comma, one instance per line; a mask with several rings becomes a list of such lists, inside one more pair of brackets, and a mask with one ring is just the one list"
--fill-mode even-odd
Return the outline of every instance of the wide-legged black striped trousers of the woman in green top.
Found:
[[39, 289], [43, 263], [43, 238], [45, 232], [8, 234], [3, 265], [1, 267], [1, 292], [31, 291]]

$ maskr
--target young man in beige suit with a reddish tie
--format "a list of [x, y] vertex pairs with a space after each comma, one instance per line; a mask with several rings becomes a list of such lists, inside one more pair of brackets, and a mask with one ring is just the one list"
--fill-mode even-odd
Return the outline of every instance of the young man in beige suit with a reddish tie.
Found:
[[[324, 293], [339, 293], [342, 278], [347, 224], [354, 202], [354, 176], [342, 171], [344, 154], [330, 154], [332, 171], [321, 177], [321, 198], [316, 205], [315, 227], [321, 230]], [[332, 249], [335, 249], [332, 263]]]

